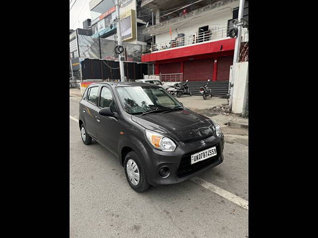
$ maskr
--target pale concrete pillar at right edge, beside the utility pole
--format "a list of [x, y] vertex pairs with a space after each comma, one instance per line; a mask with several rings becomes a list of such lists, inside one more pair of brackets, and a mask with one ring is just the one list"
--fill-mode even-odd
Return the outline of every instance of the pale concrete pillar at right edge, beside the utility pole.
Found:
[[243, 113], [248, 94], [248, 61], [236, 63], [232, 113]]

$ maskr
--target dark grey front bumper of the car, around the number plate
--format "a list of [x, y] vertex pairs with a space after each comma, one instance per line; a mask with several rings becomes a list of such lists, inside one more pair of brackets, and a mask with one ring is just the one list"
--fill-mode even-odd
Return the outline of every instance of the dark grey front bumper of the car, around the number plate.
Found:
[[[202, 146], [201, 141], [206, 143]], [[151, 146], [146, 146], [141, 152], [146, 163], [147, 180], [154, 186], [173, 184], [184, 181], [197, 174], [209, 170], [223, 162], [224, 136], [212, 135], [205, 139], [193, 142], [178, 142], [178, 147], [173, 152], [161, 151]], [[191, 165], [191, 155], [216, 146], [217, 155]], [[169, 169], [166, 178], [159, 176], [162, 167]]]

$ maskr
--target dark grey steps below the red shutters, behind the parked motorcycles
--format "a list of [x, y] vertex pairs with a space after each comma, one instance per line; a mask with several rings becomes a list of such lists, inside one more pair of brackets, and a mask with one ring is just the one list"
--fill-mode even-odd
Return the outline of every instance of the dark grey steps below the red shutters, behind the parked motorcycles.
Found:
[[[183, 82], [184, 83], [184, 82]], [[188, 86], [192, 95], [200, 95], [200, 87], [203, 87], [206, 81], [191, 81]], [[212, 89], [213, 96], [226, 96], [229, 93], [229, 81], [210, 81], [208, 87]]]

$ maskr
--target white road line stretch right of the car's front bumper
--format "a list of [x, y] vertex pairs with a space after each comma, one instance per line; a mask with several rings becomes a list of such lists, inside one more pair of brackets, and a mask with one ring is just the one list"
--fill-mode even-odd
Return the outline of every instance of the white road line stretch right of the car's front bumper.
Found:
[[210, 182], [207, 182], [204, 179], [200, 179], [198, 177], [193, 177], [190, 179], [192, 182], [199, 184], [200, 186], [209, 189], [210, 191], [220, 195], [221, 197], [224, 197], [225, 199], [241, 206], [242, 208], [246, 209], [248, 211], [248, 201], [244, 200], [243, 198], [240, 198], [239, 196], [228, 192], [227, 190], [222, 189], [221, 187], [218, 187]]

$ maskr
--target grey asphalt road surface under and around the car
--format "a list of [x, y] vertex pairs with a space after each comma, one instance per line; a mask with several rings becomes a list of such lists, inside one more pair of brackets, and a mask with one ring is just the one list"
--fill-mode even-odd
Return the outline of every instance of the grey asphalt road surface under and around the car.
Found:
[[[70, 97], [78, 118], [79, 98]], [[248, 200], [248, 147], [225, 145], [224, 162], [198, 177]], [[116, 157], [84, 145], [70, 119], [70, 238], [246, 238], [248, 210], [190, 180], [144, 193], [130, 188]]]

